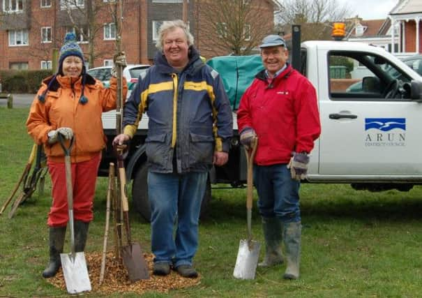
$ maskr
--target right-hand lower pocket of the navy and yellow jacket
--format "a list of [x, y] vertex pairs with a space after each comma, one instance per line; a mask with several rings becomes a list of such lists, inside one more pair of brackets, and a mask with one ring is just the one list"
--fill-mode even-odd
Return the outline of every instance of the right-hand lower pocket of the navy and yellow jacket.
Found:
[[213, 163], [214, 137], [190, 133], [189, 165]]

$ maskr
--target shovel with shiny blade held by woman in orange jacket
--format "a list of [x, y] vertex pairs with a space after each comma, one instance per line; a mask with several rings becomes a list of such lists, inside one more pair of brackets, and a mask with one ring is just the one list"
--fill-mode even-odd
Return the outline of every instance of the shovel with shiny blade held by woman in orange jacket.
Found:
[[64, 151], [64, 164], [66, 169], [66, 191], [68, 193], [68, 212], [70, 226], [70, 253], [61, 253], [61, 268], [63, 269], [64, 281], [69, 294], [91, 291], [91, 281], [89, 281], [88, 268], [84, 252], [75, 253], [75, 232], [73, 227], [73, 188], [72, 170], [70, 167], [70, 150], [72, 149], [74, 137], [70, 140], [69, 147], [66, 148], [64, 140], [59, 133], [59, 142]]

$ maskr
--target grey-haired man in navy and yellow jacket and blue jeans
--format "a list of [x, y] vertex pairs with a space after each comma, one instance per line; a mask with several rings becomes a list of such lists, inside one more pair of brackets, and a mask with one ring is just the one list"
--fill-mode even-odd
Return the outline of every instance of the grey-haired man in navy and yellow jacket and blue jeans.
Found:
[[227, 163], [232, 110], [220, 76], [200, 59], [186, 24], [163, 22], [159, 36], [160, 51], [124, 107], [124, 131], [114, 144], [130, 140], [142, 113], [148, 114], [153, 273], [167, 275], [173, 267], [195, 278], [192, 260], [206, 179], [213, 164]]

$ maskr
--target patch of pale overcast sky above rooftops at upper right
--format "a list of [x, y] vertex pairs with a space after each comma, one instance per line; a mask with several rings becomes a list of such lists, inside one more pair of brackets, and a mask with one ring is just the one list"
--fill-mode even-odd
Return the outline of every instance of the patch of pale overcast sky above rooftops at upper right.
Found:
[[347, 5], [352, 11], [352, 17], [359, 15], [363, 20], [385, 19], [398, 0], [337, 0], [341, 5]]

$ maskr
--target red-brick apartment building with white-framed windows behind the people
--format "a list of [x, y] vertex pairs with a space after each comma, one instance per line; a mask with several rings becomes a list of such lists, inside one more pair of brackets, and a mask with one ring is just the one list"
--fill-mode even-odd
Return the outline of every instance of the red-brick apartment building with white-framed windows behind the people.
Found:
[[[275, 1], [122, 0], [121, 48], [126, 52], [128, 63], [151, 64], [156, 52], [158, 27], [164, 20], [175, 19], [188, 22], [202, 56], [210, 58], [217, 54], [229, 54], [229, 48], [213, 48], [214, 38], [225, 37], [224, 33], [209, 31], [211, 23], [207, 12], [215, 1], [252, 3], [250, 5], [259, 10], [259, 19], [265, 20], [265, 26], [260, 25], [259, 31], [254, 31], [250, 24], [257, 20], [247, 20], [248, 40], [258, 35], [260, 39], [263, 34], [273, 30], [273, 11], [277, 8]], [[68, 31], [76, 33], [87, 60], [94, 57], [90, 68], [111, 64], [116, 52], [116, 13], [113, 13], [116, 3], [119, 1], [0, 1], [0, 69], [52, 68], [53, 49], [61, 47]], [[221, 24], [226, 26], [225, 22]], [[89, 43], [94, 46], [89, 47]], [[258, 43], [255, 41], [255, 45]]]

